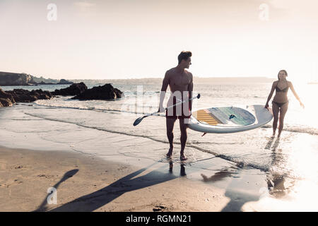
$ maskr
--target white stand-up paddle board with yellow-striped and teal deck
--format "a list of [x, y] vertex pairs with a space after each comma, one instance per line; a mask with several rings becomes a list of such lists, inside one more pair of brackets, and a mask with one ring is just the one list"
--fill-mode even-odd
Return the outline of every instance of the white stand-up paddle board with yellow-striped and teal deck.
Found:
[[192, 112], [189, 128], [203, 133], [237, 133], [264, 126], [273, 119], [264, 105], [211, 107]]

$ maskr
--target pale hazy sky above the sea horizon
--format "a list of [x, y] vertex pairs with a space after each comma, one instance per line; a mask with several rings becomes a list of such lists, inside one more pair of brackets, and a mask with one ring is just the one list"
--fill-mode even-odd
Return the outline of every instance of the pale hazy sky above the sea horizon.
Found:
[[286, 69], [293, 80], [317, 80], [317, 10], [317, 0], [0, 0], [0, 71], [163, 77], [190, 50], [194, 76]]

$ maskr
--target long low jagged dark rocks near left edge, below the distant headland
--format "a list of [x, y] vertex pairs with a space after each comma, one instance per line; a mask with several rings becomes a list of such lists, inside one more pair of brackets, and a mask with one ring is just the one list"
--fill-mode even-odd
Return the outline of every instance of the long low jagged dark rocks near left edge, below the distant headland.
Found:
[[43, 90], [23, 90], [14, 89], [13, 91], [6, 91], [10, 94], [16, 102], [33, 102], [35, 100], [49, 100], [53, 97], [52, 93]]

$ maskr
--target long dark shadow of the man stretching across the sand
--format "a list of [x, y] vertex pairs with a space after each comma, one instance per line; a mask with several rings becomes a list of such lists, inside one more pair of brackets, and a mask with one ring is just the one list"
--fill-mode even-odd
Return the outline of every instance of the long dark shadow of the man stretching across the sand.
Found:
[[[143, 189], [148, 186], [153, 186], [155, 184], [160, 184], [163, 182], [167, 182], [171, 179], [177, 178], [175, 175], [170, 173], [163, 173], [160, 170], [155, 169], [148, 174], [145, 174], [141, 177], [136, 177], [142, 172], [146, 171], [149, 167], [152, 167], [154, 164], [144, 167], [143, 169], [139, 169], [136, 172], [133, 172], [122, 179], [117, 180], [116, 182], [105, 186], [98, 191], [95, 191], [91, 194], [81, 196], [76, 198], [75, 200], [65, 203], [62, 206], [54, 208], [52, 212], [67, 212], [67, 211], [81, 211], [81, 212], [90, 212], [93, 210], [97, 210], [98, 208], [105, 206], [107, 203], [110, 203], [115, 198], [122, 196], [129, 191], [135, 191], [138, 189]], [[136, 177], [136, 178], [134, 178]], [[40, 209], [40, 208], [39, 208]]]

